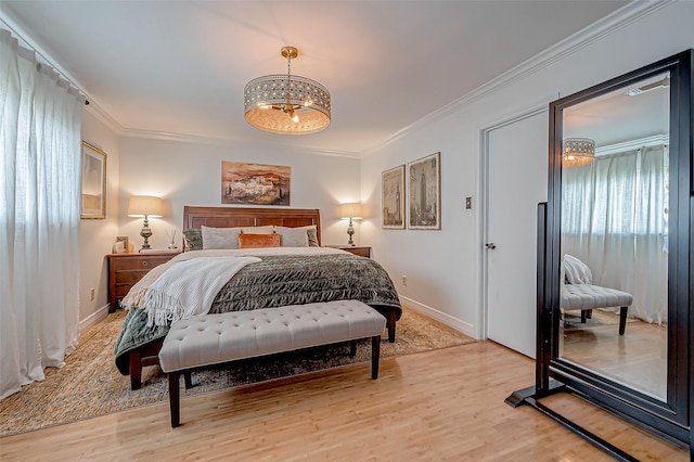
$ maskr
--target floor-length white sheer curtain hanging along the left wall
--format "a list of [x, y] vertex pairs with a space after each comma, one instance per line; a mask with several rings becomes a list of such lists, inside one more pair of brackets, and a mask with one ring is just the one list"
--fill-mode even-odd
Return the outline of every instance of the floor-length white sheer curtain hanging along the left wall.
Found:
[[0, 399], [77, 345], [83, 101], [0, 29]]

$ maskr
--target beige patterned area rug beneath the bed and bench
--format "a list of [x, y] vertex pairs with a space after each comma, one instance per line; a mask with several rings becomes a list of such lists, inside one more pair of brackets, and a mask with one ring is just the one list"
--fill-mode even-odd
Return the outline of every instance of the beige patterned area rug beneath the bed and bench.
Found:
[[[144, 368], [142, 388], [130, 389], [130, 377], [120, 375], [114, 363], [114, 345], [125, 312], [118, 310], [82, 333], [78, 348], [62, 369], [49, 368], [43, 382], [0, 401], [0, 437], [90, 419], [127, 409], [168, 401], [166, 375], [158, 365]], [[385, 335], [384, 335], [385, 337]], [[394, 344], [384, 338], [381, 357], [410, 355], [475, 342], [411, 309], [398, 321]], [[221, 390], [239, 385], [270, 381], [371, 360], [369, 341], [358, 344], [357, 356], [349, 345], [237, 361], [193, 374], [193, 388], [181, 397]]]

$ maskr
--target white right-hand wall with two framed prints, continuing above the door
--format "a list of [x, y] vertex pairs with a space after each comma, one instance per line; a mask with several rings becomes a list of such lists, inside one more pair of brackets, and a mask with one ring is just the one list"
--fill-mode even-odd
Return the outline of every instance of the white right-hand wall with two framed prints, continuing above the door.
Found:
[[[362, 159], [361, 200], [374, 211], [362, 222], [361, 241], [374, 247], [375, 258], [390, 273], [407, 305], [478, 335], [484, 246], [484, 214], [478, 206], [483, 174], [480, 131], [547, 106], [560, 95], [694, 48], [694, 2], [670, 3], [632, 20], [617, 26], [604, 22], [603, 28], [608, 30], [599, 34], [600, 38], [570, 53], [558, 53], [532, 72], [467, 99], [455, 110], [432, 116], [430, 121], [412, 127]], [[441, 230], [381, 229], [381, 172], [439, 151]], [[514, 154], [548, 157], [545, 152], [524, 152], [522, 145]], [[465, 196], [473, 196], [472, 210], [464, 208]], [[407, 285], [402, 284], [403, 274], [408, 277]]]

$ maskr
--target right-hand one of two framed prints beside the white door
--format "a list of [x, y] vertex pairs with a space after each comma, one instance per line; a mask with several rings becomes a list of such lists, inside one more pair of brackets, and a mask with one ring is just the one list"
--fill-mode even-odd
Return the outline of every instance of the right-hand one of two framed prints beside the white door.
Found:
[[441, 229], [441, 153], [408, 164], [408, 228]]

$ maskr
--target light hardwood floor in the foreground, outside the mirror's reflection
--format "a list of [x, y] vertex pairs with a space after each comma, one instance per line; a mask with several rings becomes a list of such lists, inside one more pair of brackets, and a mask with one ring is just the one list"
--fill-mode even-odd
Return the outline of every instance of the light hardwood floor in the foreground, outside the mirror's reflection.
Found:
[[[504, 403], [534, 362], [491, 342], [385, 359], [156, 405], [0, 439], [2, 461], [602, 461], [529, 407]], [[140, 390], [141, 393], [144, 392]], [[677, 448], [568, 395], [543, 400], [641, 460]], [[597, 429], [595, 429], [597, 428]]]

